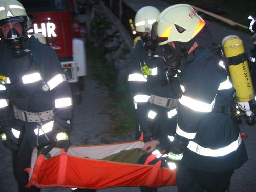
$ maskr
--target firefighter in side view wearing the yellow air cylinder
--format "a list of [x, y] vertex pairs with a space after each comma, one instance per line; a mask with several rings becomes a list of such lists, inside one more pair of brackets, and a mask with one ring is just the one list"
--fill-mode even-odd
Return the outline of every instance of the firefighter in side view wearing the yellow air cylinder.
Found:
[[153, 30], [166, 62], [177, 63], [183, 90], [169, 151], [169, 159], [179, 165], [178, 191], [228, 191], [234, 169], [247, 153], [229, 110], [235, 90], [222, 57], [210, 49], [210, 31], [187, 4], [162, 11]]

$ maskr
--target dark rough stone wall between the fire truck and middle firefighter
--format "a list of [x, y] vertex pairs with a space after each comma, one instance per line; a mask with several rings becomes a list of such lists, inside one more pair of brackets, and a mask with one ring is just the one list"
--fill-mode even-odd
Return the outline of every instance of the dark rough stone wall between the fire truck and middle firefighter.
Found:
[[127, 30], [115, 16], [104, 7], [97, 4], [93, 7], [91, 22], [90, 46], [104, 49], [107, 65], [114, 65], [118, 71], [117, 83], [123, 86], [127, 82], [127, 69], [133, 41]]

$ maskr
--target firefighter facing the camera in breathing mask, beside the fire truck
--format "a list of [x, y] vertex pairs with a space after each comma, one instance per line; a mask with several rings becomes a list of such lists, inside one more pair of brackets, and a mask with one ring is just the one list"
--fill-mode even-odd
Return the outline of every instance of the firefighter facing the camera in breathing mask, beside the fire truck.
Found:
[[49, 140], [68, 150], [72, 94], [56, 52], [27, 36], [31, 20], [23, 5], [1, 0], [0, 7], [1, 139], [12, 151], [18, 190], [40, 191], [25, 188], [24, 169], [38, 144]]

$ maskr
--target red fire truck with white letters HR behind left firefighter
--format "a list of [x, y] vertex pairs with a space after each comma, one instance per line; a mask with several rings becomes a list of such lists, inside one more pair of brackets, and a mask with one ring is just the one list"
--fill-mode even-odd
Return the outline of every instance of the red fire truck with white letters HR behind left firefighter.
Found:
[[[58, 54], [70, 84], [73, 102], [80, 103], [86, 70], [84, 40], [80, 38], [76, 0], [20, 0], [32, 21], [28, 33], [42, 33]], [[81, 9], [80, 9], [81, 10]]]

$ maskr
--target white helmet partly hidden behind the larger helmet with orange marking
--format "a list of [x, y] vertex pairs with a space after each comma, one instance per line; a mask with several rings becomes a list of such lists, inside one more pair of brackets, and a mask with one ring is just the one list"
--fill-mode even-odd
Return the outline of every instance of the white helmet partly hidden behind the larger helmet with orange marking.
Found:
[[152, 6], [139, 9], [135, 15], [135, 28], [137, 32], [150, 32], [152, 24], [157, 20], [160, 11]]

